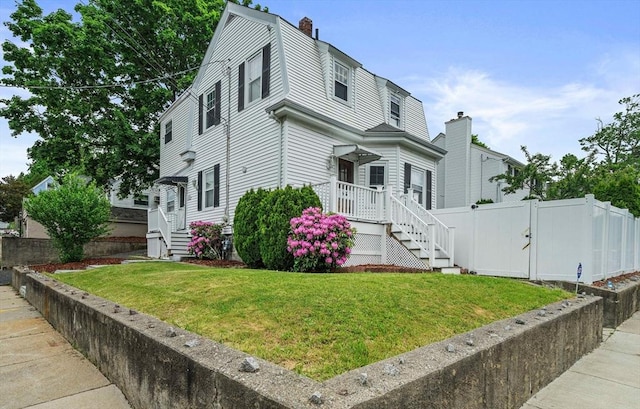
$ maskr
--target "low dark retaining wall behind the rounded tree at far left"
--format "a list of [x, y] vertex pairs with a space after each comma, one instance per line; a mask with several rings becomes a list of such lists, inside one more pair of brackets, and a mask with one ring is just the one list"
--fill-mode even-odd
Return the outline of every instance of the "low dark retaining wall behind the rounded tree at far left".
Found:
[[[143, 250], [146, 243], [116, 241], [92, 241], [84, 246], [85, 257], [101, 257], [111, 254]], [[57, 263], [58, 251], [50, 239], [28, 239], [22, 237], [0, 237], [0, 267]]]

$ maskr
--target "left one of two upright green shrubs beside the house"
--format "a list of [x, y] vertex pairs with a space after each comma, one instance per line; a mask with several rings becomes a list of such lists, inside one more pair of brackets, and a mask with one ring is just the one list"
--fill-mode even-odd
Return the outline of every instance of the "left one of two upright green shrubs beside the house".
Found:
[[233, 240], [242, 261], [251, 268], [262, 268], [260, 256], [260, 230], [258, 229], [258, 208], [267, 196], [264, 189], [246, 192], [238, 201], [233, 217]]

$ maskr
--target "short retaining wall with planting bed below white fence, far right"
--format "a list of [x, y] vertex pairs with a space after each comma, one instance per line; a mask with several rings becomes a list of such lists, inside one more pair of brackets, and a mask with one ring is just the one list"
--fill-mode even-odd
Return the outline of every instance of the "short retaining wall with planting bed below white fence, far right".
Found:
[[[558, 282], [567, 291], [575, 291], [575, 283]], [[593, 294], [604, 300], [604, 321], [607, 328], [616, 328], [636, 312], [640, 311], [640, 281], [632, 282], [625, 287], [609, 290], [606, 287], [578, 285], [579, 293]]]

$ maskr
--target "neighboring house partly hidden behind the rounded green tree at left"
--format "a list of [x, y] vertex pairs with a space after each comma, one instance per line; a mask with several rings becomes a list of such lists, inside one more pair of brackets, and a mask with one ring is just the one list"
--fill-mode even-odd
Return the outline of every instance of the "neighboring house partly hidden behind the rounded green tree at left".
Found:
[[[115, 181], [108, 194], [111, 203], [110, 237], [144, 237], [147, 233], [147, 209], [149, 205], [149, 191], [143, 191], [137, 196], [119, 199], [117, 196], [119, 182]], [[40, 183], [31, 188], [34, 194], [43, 190], [55, 189], [56, 182], [47, 176]], [[22, 237], [46, 239], [49, 238], [44, 226], [31, 219], [23, 210]]]

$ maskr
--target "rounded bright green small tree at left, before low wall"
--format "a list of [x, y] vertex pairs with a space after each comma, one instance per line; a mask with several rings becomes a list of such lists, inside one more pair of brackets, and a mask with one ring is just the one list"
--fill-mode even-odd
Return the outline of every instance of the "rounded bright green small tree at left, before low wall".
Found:
[[28, 215], [42, 224], [62, 262], [80, 261], [84, 245], [106, 234], [111, 205], [95, 182], [68, 174], [56, 189], [25, 201]]

